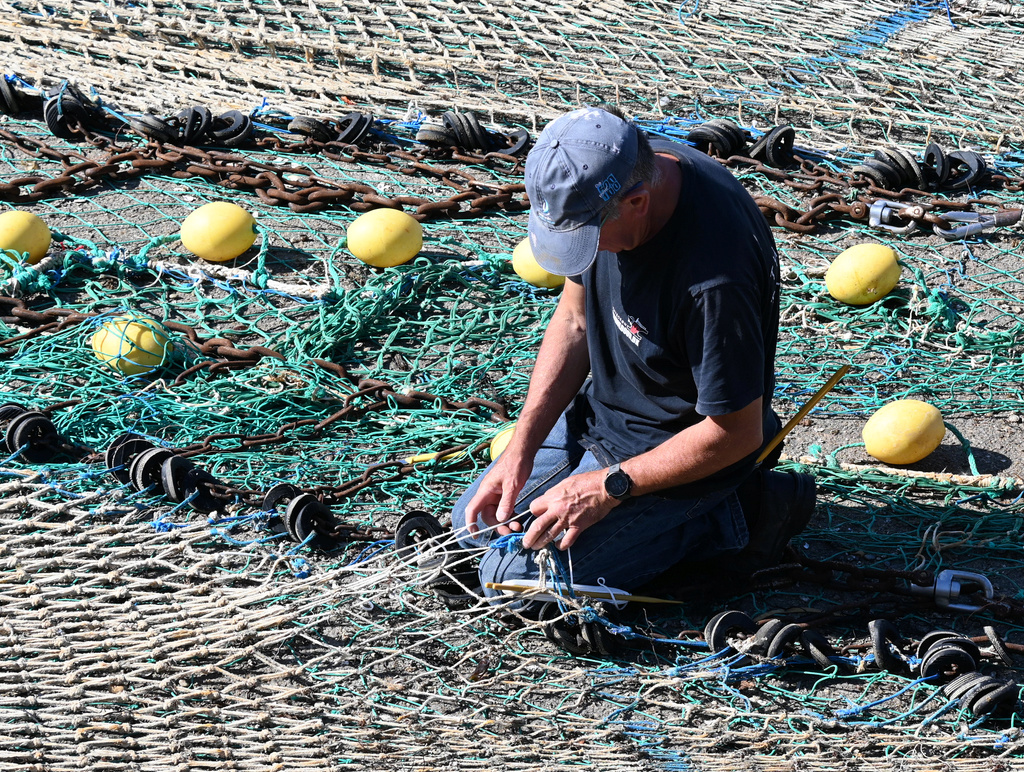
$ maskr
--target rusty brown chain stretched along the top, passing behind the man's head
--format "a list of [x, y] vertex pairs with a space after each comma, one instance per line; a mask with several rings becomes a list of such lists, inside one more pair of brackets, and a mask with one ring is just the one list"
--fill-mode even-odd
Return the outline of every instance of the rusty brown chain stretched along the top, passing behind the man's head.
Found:
[[[279, 136], [263, 136], [253, 141], [258, 149], [283, 155], [319, 154], [332, 161], [376, 165], [403, 175], [420, 174], [455, 190], [446, 199], [430, 200], [417, 196], [383, 196], [365, 183], [327, 180], [308, 166], [266, 164], [237, 152], [181, 146], [154, 139], [144, 145], [119, 144], [84, 128], [80, 129], [80, 134], [102, 154], [100, 158], [90, 159], [76, 151], [59, 151], [40, 140], [0, 128], [0, 139], [34, 157], [57, 161], [63, 168], [62, 173], [55, 177], [27, 175], [0, 183], [0, 200], [14, 204], [31, 203], [81, 192], [103, 182], [161, 173], [182, 179], [202, 177], [231, 189], [251, 190], [268, 205], [287, 206], [300, 213], [334, 207], [356, 212], [389, 207], [408, 208], [416, 219], [429, 220], [439, 217], [472, 218], [496, 209], [521, 212], [529, 208], [525, 186], [521, 182], [498, 184], [479, 180], [465, 170], [440, 168], [428, 163], [453, 161], [486, 167], [504, 166], [510, 174], [521, 173], [522, 160], [500, 152], [481, 155], [457, 147], [425, 146], [410, 151], [383, 141], [371, 152], [353, 144], [321, 142], [311, 137], [286, 141]], [[709, 153], [712, 153], [711, 148]], [[940, 229], [948, 227], [947, 220], [941, 216], [943, 212], [969, 212], [974, 206], [994, 208], [997, 212], [1019, 211], [1006, 207], [1004, 202], [995, 199], [973, 198], [955, 202], [912, 187], [888, 190], [878, 187], [873, 180], [862, 174], [837, 172], [799, 155], [794, 156], [798, 162], [798, 168], [794, 170], [778, 169], [739, 155], [716, 158], [723, 165], [748, 168], [804, 196], [814, 194], [803, 210], [768, 196], [753, 194], [761, 212], [772, 224], [799, 233], [813, 232], [819, 225], [837, 219], [867, 221], [871, 206], [879, 201], [907, 202], [905, 207], [894, 210], [893, 216], [899, 223]], [[1024, 180], [1007, 175], [990, 174], [988, 180], [990, 184], [1008, 191], [1024, 189]], [[853, 197], [852, 201], [850, 197]]]

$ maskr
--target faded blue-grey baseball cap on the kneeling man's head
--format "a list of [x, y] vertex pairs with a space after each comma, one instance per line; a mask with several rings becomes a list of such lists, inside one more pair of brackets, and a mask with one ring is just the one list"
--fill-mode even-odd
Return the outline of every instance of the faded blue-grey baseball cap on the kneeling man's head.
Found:
[[556, 118], [526, 157], [529, 246], [542, 268], [583, 273], [597, 256], [601, 211], [637, 160], [637, 129], [599, 108]]

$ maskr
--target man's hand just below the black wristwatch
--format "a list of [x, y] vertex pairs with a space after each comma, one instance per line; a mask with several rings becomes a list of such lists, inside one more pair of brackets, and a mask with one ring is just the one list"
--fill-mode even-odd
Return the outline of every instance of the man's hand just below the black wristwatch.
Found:
[[540, 550], [558, 538], [559, 550], [567, 550], [587, 528], [603, 519], [616, 505], [604, 489], [604, 470], [566, 477], [534, 500], [529, 511], [537, 519], [523, 537], [522, 546]]

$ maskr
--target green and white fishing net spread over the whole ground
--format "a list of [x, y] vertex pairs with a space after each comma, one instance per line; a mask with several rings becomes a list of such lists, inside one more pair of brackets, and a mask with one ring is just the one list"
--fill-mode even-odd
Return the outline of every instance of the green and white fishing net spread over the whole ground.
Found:
[[[310, 174], [332, 190], [362, 186], [315, 211], [288, 206], [308, 196], [267, 200], [225, 184], [226, 173], [205, 174], [227, 163], [216, 156], [157, 159], [137, 174], [58, 182], [16, 203], [55, 242], [36, 266], [4, 255], [3, 397], [47, 411], [66, 446], [34, 461], [20, 446], [0, 458], [0, 769], [990, 770], [1019, 756], [1016, 715], [975, 715], [934, 679], [880, 671], [866, 632], [885, 616], [907, 638], [938, 628], [981, 641], [993, 626], [1020, 640], [1015, 228], [951, 241], [842, 216], [808, 232], [774, 228], [778, 412], [792, 416], [837, 368], [852, 368], [787, 443], [783, 468], [810, 471], [819, 485], [795, 547], [808, 561], [843, 561], [860, 584], [781, 572], [751, 592], [630, 607], [601, 617], [623, 650], [575, 656], [501, 606], [445, 604], [430, 588], [443, 544], [410, 556], [392, 541], [412, 510], [445, 520], [485, 467], [558, 298], [511, 268], [526, 225], [521, 164], [414, 153], [425, 121], [458, 106], [494, 132], [534, 132], [565, 109], [607, 100], [678, 139], [709, 118], [729, 118], [752, 138], [790, 123], [798, 152], [836, 174], [882, 143], [921, 158], [936, 141], [978, 149], [1010, 181], [935, 201], [1014, 207], [1017, 6], [0, 7], [10, 83], [32, 95], [71, 79], [109, 110], [108, 134], [124, 147], [144, 142], [120, 119], [194, 103], [252, 112], [278, 129], [299, 113], [378, 118], [375, 147], [361, 156], [229, 151], [290, 170], [279, 189]], [[2, 120], [5, 190], [59, 179], [80, 161], [69, 154], [111, 152], [55, 138], [31, 111]], [[32, 152], [33, 141], [57, 153]], [[728, 166], [782, 209], [810, 211], [821, 192], [757, 165]], [[847, 204], [863, 191], [836, 189]], [[461, 206], [419, 209], [466, 190]], [[469, 203], [496, 191], [507, 195], [494, 206]], [[373, 268], [351, 256], [345, 235], [376, 206], [368, 196], [429, 215], [415, 259]], [[213, 201], [256, 216], [254, 247], [232, 262], [200, 261], [177, 238]], [[824, 268], [868, 240], [896, 250], [900, 285], [869, 306], [840, 304]], [[125, 313], [168, 331], [173, 345], [152, 374], [123, 378], [93, 353], [92, 336]], [[948, 463], [893, 469], [866, 457], [863, 420], [901, 397], [942, 411]], [[103, 451], [125, 432], [208, 471], [229, 491], [223, 506], [200, 511], [159, 484], [116, 477]], [[348, 530], [296, 541], [260, 506], [280, 483], [321, 495]], [[987, 576], [999, 602], [954, 614], [891, 592], [905, 591], [911, 572], [947, 568]], [[827, 668], [799, 652], [713, 655], [705, 624], [729, 607], [805, 621], [840, 655]], [[562, 611], [603, 625], [582, 599]], [[1019, 677], [981, 645], [993, 673]]]

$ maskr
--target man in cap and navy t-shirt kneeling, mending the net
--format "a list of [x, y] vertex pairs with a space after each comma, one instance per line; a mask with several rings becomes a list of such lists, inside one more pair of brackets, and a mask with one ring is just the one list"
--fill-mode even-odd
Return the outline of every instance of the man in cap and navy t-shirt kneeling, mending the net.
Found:
[[814, 484], [755, 472], [779, 428], [778, 257], [753, 199], [610, 108], [552, 122], [525, 182], [534, 256], [568, 281], [513, 438], [453, 512], [465, 548], [522, 534], [481, 583], [536, 578], [553, 543], [573, 582], [623, 590], [680, 561], [777, 561]]

